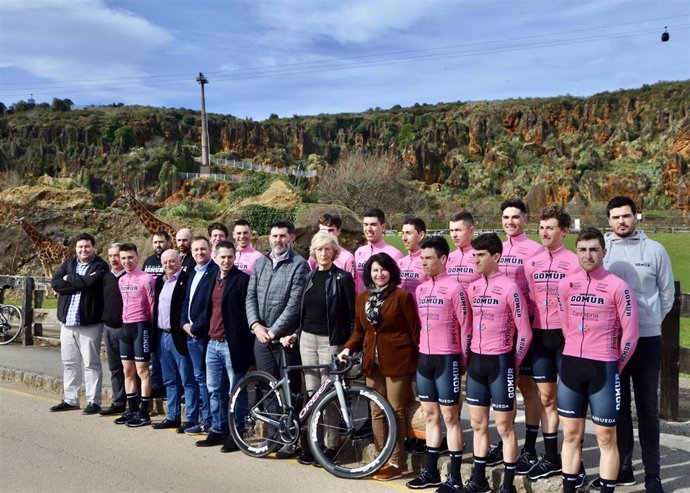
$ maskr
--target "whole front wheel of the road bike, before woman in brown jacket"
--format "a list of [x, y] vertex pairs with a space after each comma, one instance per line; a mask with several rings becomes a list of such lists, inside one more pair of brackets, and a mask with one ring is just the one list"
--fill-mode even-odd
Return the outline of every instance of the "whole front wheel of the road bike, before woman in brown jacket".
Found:
[[[316, 404], [309, 419], [309, 448], [331, 474], [346, 479], [363, 478], [376, 472], [393, 453], [397, 421], [388, 401], [363, 385], [345, 389], [345, 406], [351, 426], [345, 423], [345, 410], [335, 390]], [[370, 425], [381, 432], [380, 443], [374, 439]]]

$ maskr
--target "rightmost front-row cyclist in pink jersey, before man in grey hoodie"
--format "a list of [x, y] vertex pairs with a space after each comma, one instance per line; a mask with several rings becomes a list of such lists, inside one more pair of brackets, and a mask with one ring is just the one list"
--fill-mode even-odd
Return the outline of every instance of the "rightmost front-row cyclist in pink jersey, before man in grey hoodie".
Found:
[[582, 270], [561, 280], [558, 297], [565, 348], [558, 384], [563, 422], [563, 489], [575, 492], [587, 405], [599, 444], [601, 491], [612, 492], [618, 477], [616, 420], [620, 372], [632, 356], [639, 327], [633, 291], [604, 269], [604, 236], [585, 228], [576, 242]]

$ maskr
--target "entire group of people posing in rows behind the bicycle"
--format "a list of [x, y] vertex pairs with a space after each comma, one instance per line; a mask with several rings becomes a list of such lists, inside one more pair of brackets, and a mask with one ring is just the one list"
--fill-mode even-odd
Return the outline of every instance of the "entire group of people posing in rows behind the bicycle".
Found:
[[[229, 426], [241, 423], [228, 424], [229, 391], [253, 365], [279, 378], [279, 353], [271, 341], [287, 348], [288, 364], [326, 364], [333, 354], [361, 351], [366, 384], [388, 399], [399, 430], [389, 462], [374, 479], [404, 474], [406, 410], [416, 392], [425, 419], [425, 460], [409, 488], [488, 492], [486, 467], [503, 463], [501, 492], [515, 491], [516, 475], [536, 481], [559, 474], [564, 491], [574, 492], [586, 478], [581, 446], [589, 407], [600, 449], [600, 477], [592, 486], [606, 492], [635, 482], [632, 380], [645, 488], [663, 491], [657, 388], [661, 321], [674, 295], [668, 255], [635, 229], [636, 207], [628, 197], [608, 204], [612, 232], [584, 228], [575, 253], [564, 246], [570, 217], [563, 208], [543, 209], [541, 245], [525, 234], [526, 213], [519, 199], [501, 204], [503, 242], [495, 233], [475, 236], [469, 212], [453, 215], [452, 252], [444, 237], [427, 236], [424, 221], [407, 219], [407, 255], [384, 241], [380, 209], [364, 213], [366, 244], [354, 254], [338, 242], [341, 219], [324, 214], [308, 262], [292, 248], [289, 221], [272, 224], [267, 254], [252, 247], [246, 221], [234, 224], [236, 244], [220, 223], [209, 226], [210, 239], [179, 231], [177, 250], [167, 233], [157, 233], [144, 270], [133, 244], [111, 245], [109, 268], [95, 255], [94, 238], [80, 235], [76, 258], [53, 277], [65, 395], [52, 410], [79, 409], [83, 362], [85, 414], [121, 414], [115, 422], [130, 427], [149, 424], [158, 374], [168, 412], [153, 427], [206, 434], [196, 445], [232, 451]], [[106, 409], [100, 408], [102, 331], [113, 386], [113, 404]], [[463, 375], [474, 455], [464, 483]], [[299, 393], [303, 386], [313, 393], [327, 371], [304, 370], [303, 382], [299, 377], [291, 376], [291, 390]], [[516, 387], [526, 423], [521, 450]], [[500, 436], [493, 447], [490, 408]], [[387, 430], [375, 410], [371, 426], [380, 446]], [[537, 460], [540, 428], [545, 453]], [[324, 437], [326, 453], [335, 453], [337, 441]], [[438, 468], [442, 443], [450, 454], [444, 482]], [[304, 445], [298, 460], [311, 464]], [[278, 455], [297, 453], [286, 446]]]

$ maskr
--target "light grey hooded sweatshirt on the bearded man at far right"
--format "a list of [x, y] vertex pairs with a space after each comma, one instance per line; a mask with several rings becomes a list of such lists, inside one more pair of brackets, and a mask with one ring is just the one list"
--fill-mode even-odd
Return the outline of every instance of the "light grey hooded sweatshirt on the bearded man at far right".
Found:
[[627, 282], [637, 297], [640, 337], [661, 335], [673, 307], [673, 270], [666, 249], [637, 230], [627, 238], [606, 233], [604, 267]]

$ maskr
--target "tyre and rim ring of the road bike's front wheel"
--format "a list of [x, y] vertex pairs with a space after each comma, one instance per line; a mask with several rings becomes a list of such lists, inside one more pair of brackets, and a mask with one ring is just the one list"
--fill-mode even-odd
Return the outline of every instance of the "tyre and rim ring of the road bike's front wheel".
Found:
[[[365, 465], [359, 465], [356, 468], [348, 468], [341, 464], [337, 464], [325, 454], [324, 447], [318, 442], [318, 427], [320, 418], [324, 415], [324, 408], [334, 400], [337, 401], [338, 399], [338, 394], [335, 389], [332, 389], [330, 392], [326, 393], [316, 403], [316, 406], [314, 407], [314, 410], [309, 418], [308, 442], [314, 459], [329, 473], [339, 478], [359, 479], [374, 474], [380, 467], [386, 464], [388, 459], [390, 459], [391, 455], [393, 454], [393, 449], [395, 448], [395, 441], [398, 433], [397, 420], [395, 413], [393, 412], [393, 408], [388, 403], [386, 398], [369, 387], [358, 384], [351, 385], [345, 389], [345, 395], [346, 397], [348, 395], [357, 398], [364, 397], [367, 399], [367, 406], [373, 401], [376, 402], [383, 410], [383, 415], [387, 421], [389, 431], [381, 451], [372, 461]], [[350, 400], [348, 399], [348, 401]]]

